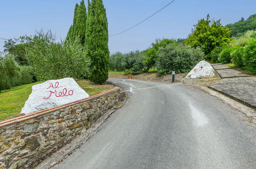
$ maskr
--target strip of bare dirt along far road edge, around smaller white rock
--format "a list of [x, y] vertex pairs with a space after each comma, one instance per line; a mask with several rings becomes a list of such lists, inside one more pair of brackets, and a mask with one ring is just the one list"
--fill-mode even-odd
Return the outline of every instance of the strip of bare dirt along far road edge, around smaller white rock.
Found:
[[[208, 87], [208, 86], [211, 86], [213, 83], [221, 80], [219, 74], [216, 72], [215, 72], [215, 77], [212, 77], [212, 78], [191, 79], [191, 78], [185, 78], [186, 75], [187, 73], [175, 74], [175, 82]], [[116, 73], [110, 73], [108, 77], [127, 79], [127, 75], [116, 74]], [[138, 75], [132, 75], [132, 79], [171, 83], [172, 75], [168, 74], [168, 75], [158, 76], [155, 72], [148, 72], [148, 73], [141, 73]]]

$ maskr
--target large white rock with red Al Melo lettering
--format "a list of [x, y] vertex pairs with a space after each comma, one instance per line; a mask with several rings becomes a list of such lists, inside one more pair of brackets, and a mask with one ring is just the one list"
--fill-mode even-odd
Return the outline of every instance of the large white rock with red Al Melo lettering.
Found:
[[40, 110], [90, 97], [73, 78], [48, 80], [34, 85], [21, 114], [30, 114]]

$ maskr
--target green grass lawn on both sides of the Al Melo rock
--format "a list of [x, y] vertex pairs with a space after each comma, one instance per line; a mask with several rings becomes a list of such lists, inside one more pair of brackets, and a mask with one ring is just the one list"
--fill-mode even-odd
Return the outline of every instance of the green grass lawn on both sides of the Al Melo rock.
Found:
[[[76, 79], [76, 82], [90, 96], [113, 89], [111, 85], [96, 85], [89, 80]], [[2, 91], [0, 93], [0, 121], [18, 117], [26, 100], [32, 92], [32, 86], [38, 83], [42, 83], [42, 81]]]

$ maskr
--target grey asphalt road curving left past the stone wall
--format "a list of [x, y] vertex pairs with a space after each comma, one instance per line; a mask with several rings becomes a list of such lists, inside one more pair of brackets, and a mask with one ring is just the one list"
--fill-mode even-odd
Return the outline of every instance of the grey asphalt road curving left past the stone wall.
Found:
[[256, 128], [223, 101], [179, 84], [109, 81], [127, 103], [54, 168], [256, 168]]

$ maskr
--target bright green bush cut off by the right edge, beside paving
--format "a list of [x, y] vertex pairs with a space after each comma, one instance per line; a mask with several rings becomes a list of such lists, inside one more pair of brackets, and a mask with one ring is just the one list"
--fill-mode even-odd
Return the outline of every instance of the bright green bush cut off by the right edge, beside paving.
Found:
[[246, 70], [256, 74], [256, 38], [252, 38], [244, 47], [243, 62]]

